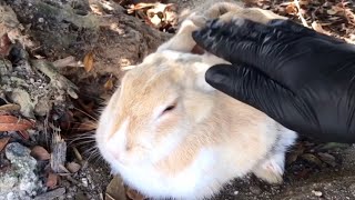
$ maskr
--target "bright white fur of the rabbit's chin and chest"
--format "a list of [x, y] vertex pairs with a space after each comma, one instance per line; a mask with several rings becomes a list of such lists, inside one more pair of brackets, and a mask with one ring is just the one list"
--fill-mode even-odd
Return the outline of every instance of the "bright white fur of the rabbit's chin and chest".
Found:
[[[114, 164], [124, 183], [153, 199], [204, 199], [216, 194], [232, 174], [233, 166], [226, 167], [215, 149], [202, 149], [196, 160], [174, 176], [166, 176], [153, 164], [124, 167]], [[223, 169], [221, 169], [223, 168]], [[231, 169], [226, 169], [231, 168]], [[233, 169], [232, 169], [233, 168]]]

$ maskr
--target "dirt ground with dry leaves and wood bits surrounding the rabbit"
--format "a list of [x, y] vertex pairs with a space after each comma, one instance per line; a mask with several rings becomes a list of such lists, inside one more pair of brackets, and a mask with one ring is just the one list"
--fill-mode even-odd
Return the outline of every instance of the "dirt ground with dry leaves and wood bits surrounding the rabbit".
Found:
[[[32, 197], [18, 191], [16, 183], [0, 188], [0, 200], [142, 199], [110, 173], [93, 133], [100, 109], [125, 68], [173, 36], [173, 28], [154, 29], [128, 14], [124, 2], [0, 0], [0, 186], [13, 178], [22, 181], [21, 174], [7, 174], [18, 170], [14, 166], [24, 157], [37, 163], [43, 182], [31, 189]], [[203, 0], [169, 2], [181, 11]], [[302, 13], [317, 31], [355, 41], [352, 3], [303, 0], [297, 1], [300, 11], [293, 2], [255, 0], [247, 6], [298, 22]], [[18, 154], [14, 164], [9, 144], [17, 142], [23, 156]], [[270, 186], [251, 176], [232, 181], [214, 199], [355, 199], [355, 146], [302, 138], [287, 154], [283, 184]]]

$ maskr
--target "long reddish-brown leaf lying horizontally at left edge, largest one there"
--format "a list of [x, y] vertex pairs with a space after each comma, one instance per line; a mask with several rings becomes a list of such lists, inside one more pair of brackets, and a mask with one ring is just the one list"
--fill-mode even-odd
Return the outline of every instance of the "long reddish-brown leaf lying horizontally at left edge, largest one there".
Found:
[[31, 121], [13, 116], [0, 116], [0, 131], [20, 131], [32, 128]]

